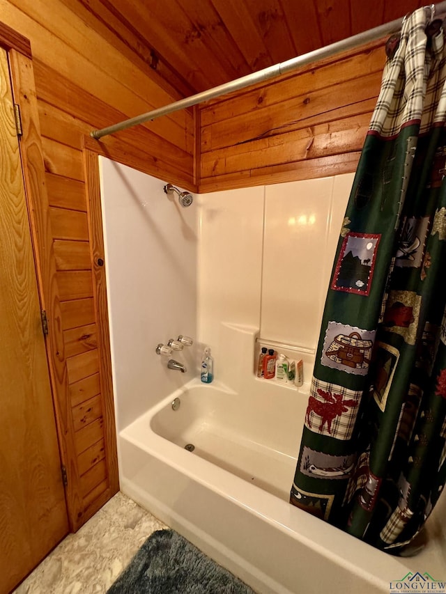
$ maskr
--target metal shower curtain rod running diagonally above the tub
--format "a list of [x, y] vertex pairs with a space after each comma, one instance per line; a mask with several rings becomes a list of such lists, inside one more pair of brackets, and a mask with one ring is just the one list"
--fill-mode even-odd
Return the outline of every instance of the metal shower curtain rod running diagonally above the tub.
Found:
[[[432, 4], [430, 6], [426, 6], [425, 8], [431, 9], [432, 18], [434, 12], [438, 14], [446, 12], [446, 0], [436, 5]], [[164, 107], [147, 111], [146, 114], [141, 114], [141, 116], [135, 116], [134, 118], [130, 118], [118, 124], [102, 128], [101, 130], [93, 130], [90, 136], [93, 136], [95, 139], [100, 139], [102, 136], [108, 136], [108, 134], [114, 134], [114, 132], [127, 130], [127, 128], [132, 126], [144, 124], [145, 122], [155, 120], [161, 116], [172, 114], [174, 111], [179, 111], [180, 109], [185, 109], [186, 107], [191, 107], [192, 105], [197, 105], [210, 99], [214, 99], [215, 97], [220, 97], [221, 95], [226, 95], [227, 93], [232, 93], [233, 91], [238, 91], [240, 88], [245, 88], [247, 86], [251, 86], [252, 84], [278, 77], [279, 75], [284, 75], [286, 72], [297, 70], [302, 66], [323, 60], [324, 58], [329, 58], [334, 54], [340, 54], [341, 52], [345, 52], [347, 49], [357, 47], [357, 45], [364, 45], [368, 42], [375, 41], [381, 37], [389, 35], [390, 33], [395, 33], [395, 31], [401, 27], [404, 18], [405, 17], [401, 17], [401, 19], [395, 19], [390, 23], [377, 26], [374, 29], [369, 29], [369, 31], [364, 31], [363, 33], [358, 33], [352, 37], [337, 41], [336, 43], [325, 45], [325, 47], [321, 47], [320, 49], [314, 49], [313, 52], [308, 52], [307, 54], [302, 54], [302, 56], [291, 58], [291, 60], [286, 60], [285, 62], [268, 66], [268, 68], [264, 68], [258, 72], [252, 72], [250, 75], [246, 75], [244, 77], [234, 79], [233, 81], [209, 88], [207, 91], [202, 91], [196, 95], [185, 97], [185, 99], [180, 99], [174, 103], [169, 103], [169, 105], [165, 105]]]

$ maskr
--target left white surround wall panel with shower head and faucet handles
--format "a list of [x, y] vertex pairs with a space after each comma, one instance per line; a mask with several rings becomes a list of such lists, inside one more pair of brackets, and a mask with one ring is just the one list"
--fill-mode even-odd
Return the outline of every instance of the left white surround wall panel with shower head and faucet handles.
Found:
[[[197, 345], [172, 357], [158, 343], [197, 337], [198, 209], [165, 182], [100, 157], [107, 295], [118, 429], [197, 375]], [[169, 358], [187, 373], [167, 368]]]

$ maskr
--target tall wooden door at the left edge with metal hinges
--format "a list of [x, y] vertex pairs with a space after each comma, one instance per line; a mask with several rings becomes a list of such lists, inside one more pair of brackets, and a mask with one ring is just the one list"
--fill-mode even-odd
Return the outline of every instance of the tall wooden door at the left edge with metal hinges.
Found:
[[67, 533], [8, 58], [0, 49], [0, 594]]

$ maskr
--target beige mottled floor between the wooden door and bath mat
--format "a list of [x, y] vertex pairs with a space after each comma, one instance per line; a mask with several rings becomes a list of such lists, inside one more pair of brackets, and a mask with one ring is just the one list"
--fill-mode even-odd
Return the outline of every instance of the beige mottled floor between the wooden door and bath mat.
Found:
[[103, 594], [155, 530], [167, 528], [117, 493], [69, 534], [13, 594]]

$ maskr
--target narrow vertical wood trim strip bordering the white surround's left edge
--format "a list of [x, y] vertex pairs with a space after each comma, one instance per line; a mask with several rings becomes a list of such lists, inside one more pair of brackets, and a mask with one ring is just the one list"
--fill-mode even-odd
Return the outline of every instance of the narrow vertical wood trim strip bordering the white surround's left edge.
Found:
[[[84, 150], [87, 213], [89, 219], [91, 260], [93, 262], [93, 295], [97, 325], [99, 353], [99, 380], [104, 416], [104, 439], [109, 488], [112, 493], [119, 489], [118, 458], [116, 449], [116, 425], [112, 385], [112, 355], [110, 350], [109, 318], [107, 307], [106, 261], [102, 210], [100, 203], [99, 159], [91, 150]], [[84, 355], [78, 355], [83, 357]]]

